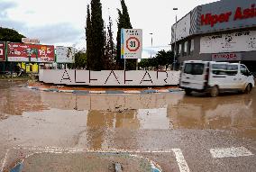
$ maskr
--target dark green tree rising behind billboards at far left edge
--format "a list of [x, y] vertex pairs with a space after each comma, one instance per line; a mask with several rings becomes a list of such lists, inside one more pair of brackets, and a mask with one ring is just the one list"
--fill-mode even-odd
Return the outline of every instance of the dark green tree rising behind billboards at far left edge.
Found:
[[22, 38], [25, 38], [19, 32], [13, 29], [0, 27], [0, 41], [12, 41], [12, 42], [22, 42]]

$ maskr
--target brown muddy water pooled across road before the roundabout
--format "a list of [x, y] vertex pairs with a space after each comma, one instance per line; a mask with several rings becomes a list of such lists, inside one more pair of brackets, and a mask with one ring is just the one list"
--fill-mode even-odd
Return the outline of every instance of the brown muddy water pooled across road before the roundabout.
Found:
[[183, 92], [73, 95], [17, 87], [21, 84], [0, 81], [0, 135], [14, 144], [104, 149], [116, 130], [123, 137], [129, 131], [131, 140], [138, 137], [131, 131], [182, 129], [237, 131], [256, 138], [256, 89], [251, 95], [209, 98]]

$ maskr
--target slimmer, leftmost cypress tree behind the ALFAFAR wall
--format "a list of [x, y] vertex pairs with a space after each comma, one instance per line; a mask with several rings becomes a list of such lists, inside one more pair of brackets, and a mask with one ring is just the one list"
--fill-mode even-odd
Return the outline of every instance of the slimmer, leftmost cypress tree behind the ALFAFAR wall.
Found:
[[87, 26], [86, 26], [86, 36], [87, 36], [87, 69], [93, 69], [93, 57], [92, 57], [92, 22], [89, 5], [87, 5]]

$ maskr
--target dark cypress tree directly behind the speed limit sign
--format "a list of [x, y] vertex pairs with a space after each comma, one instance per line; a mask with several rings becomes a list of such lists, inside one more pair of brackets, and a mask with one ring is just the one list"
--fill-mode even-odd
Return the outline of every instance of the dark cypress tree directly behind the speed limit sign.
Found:
[[[121, 0], [122, 12], [121, 10], [117, 9], [118, 11], [118, 32], [116, 37], [116, 62], [118, 67], [123, 69], [123, 59], [121, 59], [121, 29], [133, 29], [132, 23], [130, 21], [130, 15], [128, 13], [128, 8], [125, 5], [124, 0]], [[126, 69], [133, 70], [136, 69], [136, 60], [137, 59], [126, 59]]]

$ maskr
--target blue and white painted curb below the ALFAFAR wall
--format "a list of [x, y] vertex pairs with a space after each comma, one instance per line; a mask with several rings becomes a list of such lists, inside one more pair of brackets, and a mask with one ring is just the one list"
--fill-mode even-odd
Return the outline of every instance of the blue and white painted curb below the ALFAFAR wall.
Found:
[[106, 90], [106, 91], [87, 91], [87, 90], [63, 90], [58, 88], [41, 88], [37, 86], [25, 86], [29, 89], [43, 92], [53, 93], [71, 93], [75, 95], [88, 95], [88, 94], [110, 94], [110, 95], [122, 95], [122, 94], [156, 94], [156, 93], [178, 93], [183, 91], [180, 88], [173, 89], [145, 89], [145, 90]]

